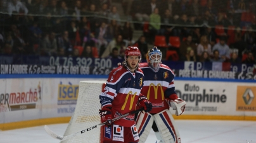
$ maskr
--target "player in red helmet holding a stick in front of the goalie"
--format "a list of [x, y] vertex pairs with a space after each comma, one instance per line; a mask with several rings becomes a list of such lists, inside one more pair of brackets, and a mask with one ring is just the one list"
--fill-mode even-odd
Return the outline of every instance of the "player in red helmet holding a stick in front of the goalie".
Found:
[[134, 115], [115, 122], [112, 122], [112, 118], [136, 110], [137, 105], [144, 108], [144, 112], [150, 112], [152, 109], [150, 101], [141, 94], [144, 74], [138, 68], [140, 60], [141, 52], [138, 47], [127, 47], [123, 66], [110, 72], [105, 89], [99, 95], [101, 122], [107, 122], [103, 127], [104, 143], [135, 143], [139, 140]]

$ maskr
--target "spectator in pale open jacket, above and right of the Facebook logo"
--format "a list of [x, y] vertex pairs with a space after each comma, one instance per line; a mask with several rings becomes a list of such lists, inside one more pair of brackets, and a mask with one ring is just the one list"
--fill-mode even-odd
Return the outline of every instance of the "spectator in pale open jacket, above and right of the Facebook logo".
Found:
[[200, 38], [200, 43], [197, 46], [198, 57], [201, 57], [203, 52], [207, 52], [208, 55], [212, 55], [212, 47], [210, 46], [210, 43], [208, 43], [206, 35], [202, 35]]

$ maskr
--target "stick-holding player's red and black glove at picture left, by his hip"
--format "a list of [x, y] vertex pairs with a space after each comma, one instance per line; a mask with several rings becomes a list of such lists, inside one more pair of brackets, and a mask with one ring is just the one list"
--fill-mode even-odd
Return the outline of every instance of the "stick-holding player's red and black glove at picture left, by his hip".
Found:
[[99, 115], [101, 116], [101, 123], [106, 122], [106, 125], [112, 125], [112, 112], [110, 108], [103, 107], [99, 110]]

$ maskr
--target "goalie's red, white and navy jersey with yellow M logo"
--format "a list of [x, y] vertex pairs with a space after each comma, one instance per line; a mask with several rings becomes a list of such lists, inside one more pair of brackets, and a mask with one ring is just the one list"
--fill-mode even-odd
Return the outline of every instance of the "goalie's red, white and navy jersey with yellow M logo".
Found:
[[144, 86], [141, 93], [150, 100], [153, 106], [150, 113], [159, 113], [169, 109], [165, 98], [177, 99], [172, 70], [168, 66], [160, 64], [158, 71], [153, 71], [148, 63], [140, 63], [139, 68], [144, 73]]

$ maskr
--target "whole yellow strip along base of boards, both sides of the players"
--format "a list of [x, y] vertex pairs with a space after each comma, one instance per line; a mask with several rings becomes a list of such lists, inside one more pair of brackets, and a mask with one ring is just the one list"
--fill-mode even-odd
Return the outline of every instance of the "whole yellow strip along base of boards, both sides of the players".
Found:
[[[224, 116], [224, 115], [172, 115], [176, 120], [252, 120], [253, 116]], [[0, 130], [13, 130], [39, 125], [49, 125], [56, 123], [68, 123], [71, 117], [42, 118], [37, 120], [27, 120], [21, 122], [0, 123]]]

